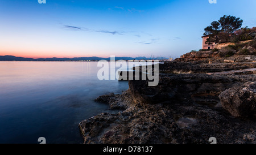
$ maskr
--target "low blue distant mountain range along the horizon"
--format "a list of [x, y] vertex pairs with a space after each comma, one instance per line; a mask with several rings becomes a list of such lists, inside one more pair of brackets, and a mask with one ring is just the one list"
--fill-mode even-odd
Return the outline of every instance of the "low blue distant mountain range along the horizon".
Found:
[[[115, 60], [141, 60], [141, 59], [149, 59], [146, 57], [115, 57]], [[100, 58], [100, 57], [78, 57], [78, 58], [23, 58], [23, 57], [15, 57], [12, 55], [0, 56], [0, 61], [100, 61], [106, 60], [110, 61], [110, 58]]]

